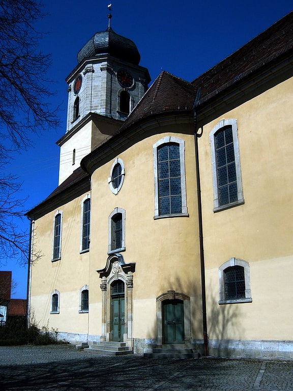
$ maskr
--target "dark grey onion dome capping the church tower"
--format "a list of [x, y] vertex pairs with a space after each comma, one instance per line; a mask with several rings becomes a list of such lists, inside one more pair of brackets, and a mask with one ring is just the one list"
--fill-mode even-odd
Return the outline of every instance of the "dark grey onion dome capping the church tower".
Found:
[[109, 26], [106, 31], [96, 33], [78, 52], [77, 61], [80, 64], [88, 57], [98, 54], [110, 54], [119, 60], [138, 65], [140, 54], [133, 41], [116, 34]]

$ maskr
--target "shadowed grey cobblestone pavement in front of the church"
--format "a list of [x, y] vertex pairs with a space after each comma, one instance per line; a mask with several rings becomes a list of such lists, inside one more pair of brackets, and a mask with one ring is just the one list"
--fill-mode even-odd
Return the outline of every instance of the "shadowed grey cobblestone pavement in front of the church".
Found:
[[293, 362], [102, 356], [73, 346], [0, 347], [0, 390], [293, 391]]

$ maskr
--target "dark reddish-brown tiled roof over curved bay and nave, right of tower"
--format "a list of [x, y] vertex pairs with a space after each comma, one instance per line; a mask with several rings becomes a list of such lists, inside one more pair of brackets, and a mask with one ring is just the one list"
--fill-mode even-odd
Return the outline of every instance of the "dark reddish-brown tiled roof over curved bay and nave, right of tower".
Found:
[[207, 101], [292, 48], [293, 12], [290, 12], [191, 83], [161, 72], [118, 132], [153, 114], [191, 110], [195, 98], [197, 105]]

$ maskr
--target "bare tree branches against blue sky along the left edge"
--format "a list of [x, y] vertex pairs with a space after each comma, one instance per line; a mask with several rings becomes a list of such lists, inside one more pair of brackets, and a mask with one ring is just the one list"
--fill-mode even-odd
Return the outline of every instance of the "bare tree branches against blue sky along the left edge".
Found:
[[0, 264], [11, 257], [26, 262], [29, 242], [28, 232], [19, 229], [25, 199], [4, 167], [31, 145], [32, 133], [59, 123], [49, 104], [50, 57], [39, 49], [42, 34], [35, 29], [44, 16], [38, 0], [0, 0]]

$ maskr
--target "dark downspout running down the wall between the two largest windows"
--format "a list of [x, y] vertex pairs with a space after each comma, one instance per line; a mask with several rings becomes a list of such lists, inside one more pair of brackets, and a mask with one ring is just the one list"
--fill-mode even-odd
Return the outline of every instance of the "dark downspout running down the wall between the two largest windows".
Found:
[[197, 133], [197, 113], [196, 113], [196, 104], [199, 100], [199, 95], [200, 95], [200, 89], [197, 90], [195, 102], [194, 102], [192, 109], [193, 109], [193, 122], [194, 122], [195, 171], [196, 171], [199, 257], [200, 257], [200, 275], [201, 275], [203, 355], [208, 356], [209, 355], [209, 339], [208, 339], [208, 327], [207, 327], [206, 272], [205, 272], [205, 268], [204, 268], [201, 188], [200, 188], [199, 157], [198, 157], [198, 138], [201, 137], [202, 133], [201, 134]]

